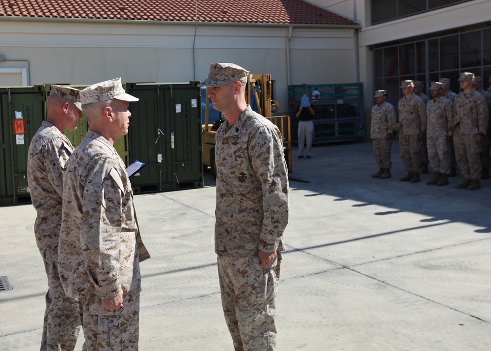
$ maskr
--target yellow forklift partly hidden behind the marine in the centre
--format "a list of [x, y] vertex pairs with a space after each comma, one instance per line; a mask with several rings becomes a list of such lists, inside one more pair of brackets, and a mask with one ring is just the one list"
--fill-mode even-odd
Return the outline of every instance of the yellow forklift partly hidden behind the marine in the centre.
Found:
[[[206, 98], [208, 99], [208, 89], [206, 88]], [[283, 150], [288, 165], [288, 171], [292, 172], [292, 152], [291, 152], [291, 131], [290, 116], [273, 116], [279, 110], [277, 101], [272, 100], [273, 82], [271, 74], [249, 74], [246, 85], [246, 102], [251, 104], [252, 96], [256, 102], [258, 113], [275, 124], [281, 132], [283, 138]], [[210, 121], [209, 103], [205, 108], [205, 124], [203, 125], [203, 166], [210, 167], [214, 175], [217, 174], [215, 168], [215, 135], [217, 131], [213, 128]], [[213, 130], [215, 129], [215, 130]]]

